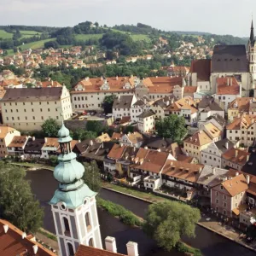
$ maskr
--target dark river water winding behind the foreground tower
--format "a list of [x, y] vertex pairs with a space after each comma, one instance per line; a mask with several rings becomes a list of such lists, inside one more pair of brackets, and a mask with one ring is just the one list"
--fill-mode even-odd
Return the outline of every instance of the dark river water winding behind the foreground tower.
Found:
[[[44, 229], [55, 233], [53, 218], [51, 215], [49, 200], [54, 195], [58, 183], [53, 177], [53, 173], [45, 170], [27, 172], [26, 178], [31, 180], [32, 191], [35, 194], [41, 206], [44, 207]], [[129, 196], [119, 195], [112, 191], [102, 189], [100, 195], [103, 199], [113, 201], [125, 208], [131, 210], [140, 217], [145, 216], [148, 203], [133, 199]], [[98, 211], [99, 222], [101, 225], [102, 241], [106, 236], [113, 236], [117, 241], [119, 253], [126, 253], [125, 244], [128, 241], [136, 241], [139, 247], [140, 256], [178, 256], [179, 253], [166, 253], [156, 247], [153, 240], [148, 238], [142, 230], [128, 227], [119, 222], [117, 218], [113, 218], [108, 212]], [[209, 230], [205, 230], [200, 226], [196, 227], [195, 238], [183, 238], [192, 247], [201, 249], [205, 256], [255, 256], [256, 253], [245, 247], [232, 242], [222, 236], [218, 236]]]

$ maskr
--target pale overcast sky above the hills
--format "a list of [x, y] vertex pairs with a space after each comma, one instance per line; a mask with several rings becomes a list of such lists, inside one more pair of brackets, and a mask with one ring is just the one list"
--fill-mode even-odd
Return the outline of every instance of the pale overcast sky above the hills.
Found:
[[0, 25], [114, 26], [137, 22], [166, 31], [249, 37], [255, 0], [0, 0]]

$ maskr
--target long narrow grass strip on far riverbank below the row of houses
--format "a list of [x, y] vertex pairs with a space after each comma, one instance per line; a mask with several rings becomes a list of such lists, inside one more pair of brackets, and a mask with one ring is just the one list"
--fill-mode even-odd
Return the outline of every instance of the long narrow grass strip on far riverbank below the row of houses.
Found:
[[134, 195], [139, 198], [142, 198], [142, 199], [145, 199], [148, 201], [152, 201], [152, 202], [169, 201], [168, 199], [157, 196], [157, 195], [149, 194], [149, 193], [138, 191], [138, 190], [131, 189], [131, 188], [121, 187], [118, 185], [113, 185], [110, 183], [102, 182], [102, 187], [108, 188], [108, 189], [113, 189], [113, 190], [116, 190], [116, 191], [119, 191], [119, 192], [122, 192], [125, 194]]

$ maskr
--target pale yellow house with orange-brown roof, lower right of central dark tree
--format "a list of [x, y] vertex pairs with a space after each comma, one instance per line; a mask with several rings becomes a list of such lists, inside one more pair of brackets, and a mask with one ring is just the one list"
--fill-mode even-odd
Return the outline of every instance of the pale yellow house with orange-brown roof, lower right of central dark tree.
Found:
[[184, 141], [184, 150], [189, 156], [195, 157], [201, 163], [201, 151], [212, 143], [205, 131], [197, 131]]

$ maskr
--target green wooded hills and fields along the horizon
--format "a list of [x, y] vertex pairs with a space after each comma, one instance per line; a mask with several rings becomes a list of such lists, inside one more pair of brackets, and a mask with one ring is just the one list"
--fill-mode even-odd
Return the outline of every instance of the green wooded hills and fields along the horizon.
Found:
[[[143, 49], [150, 49], [159, 38], [167, 39], [170, 49], [180, 41], [195, 43], [201, 38], [210, 45], [214, 44], [247, 44], [246, 38], [231, 35], [213, 35], [207, 32], [166, 32], [143, 23], [137, 25], [116, 25], [109, 27], [84, 21], [73, 27], [49, 26], [0, 26], [0, 49], [16, 51], [19, 49], [42, 48], [68, 45], [101, 45], [107, 49], [122, 50], [123, 55], [141, 54]], [[106, 36], [107, 35], [107, 36]], [[35, 44], [34, 44], [35, 43]], [[125, 47], [123, 47], [125, 44]], [[127, 44], [129, 47], [127, 48]]]

